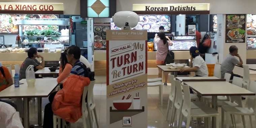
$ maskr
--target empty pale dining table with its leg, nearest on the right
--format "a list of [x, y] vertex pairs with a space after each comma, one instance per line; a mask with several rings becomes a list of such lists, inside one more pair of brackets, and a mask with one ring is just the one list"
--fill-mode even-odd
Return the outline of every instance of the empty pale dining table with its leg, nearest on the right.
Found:
[[[211, 77], [213, 79], [213, 77]], [[183, 79], [184, 81], [185, 79]], [[254, 92], [250, 92], [244, 88], [237, 85], [226, 82], [225, 79], [215, 79], [210, 80], [209, 78], [205, 81], [195, 80], [191, 77], [184, 81], [184, 84], [189, 85], [192, 90], [194, 90], [199, 96], [211, 96], [212, 97], [212, 108], [218, 111], [218, 96], [232, 96], [232, 95], [255, 95]], [[212, 118], [212, 126], [216, 128], [216, 119]]]

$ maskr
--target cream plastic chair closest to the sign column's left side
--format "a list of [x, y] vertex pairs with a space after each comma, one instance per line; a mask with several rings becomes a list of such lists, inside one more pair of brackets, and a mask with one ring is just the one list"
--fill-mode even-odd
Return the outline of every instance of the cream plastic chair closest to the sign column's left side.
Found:
[[[94, 128], [94, 122], [97, 124], [97, 128], [99, 128], [98, 118], [97, 118], [97, 112], [96, 112], [96, 104], [94, 102], [93, 97], [93, 88], [94, 88], [95, 80], [91, 81], [88, 89], [88, 96], [87, 96], [87, 110], [88, 110], [88, 117], [90, 121], [90, 128]], [[94, 120], [94, 118], [95, 120]]]

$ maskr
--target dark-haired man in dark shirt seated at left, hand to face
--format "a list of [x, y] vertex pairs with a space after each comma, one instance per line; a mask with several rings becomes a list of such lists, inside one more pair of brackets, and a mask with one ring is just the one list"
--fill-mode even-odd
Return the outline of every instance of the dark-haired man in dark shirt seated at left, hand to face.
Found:
[[[38, 62], [36, 58], [41, 58], [42, 63]], [[34, 65], [34, 71], [43, 69], [45, 66], [44, 57], [37, 54], [37, 49], [32, 47], [28, 50], [28, 57], [20, 66], [20, 79], [26, 79], [26, 69], [29, 65]]]

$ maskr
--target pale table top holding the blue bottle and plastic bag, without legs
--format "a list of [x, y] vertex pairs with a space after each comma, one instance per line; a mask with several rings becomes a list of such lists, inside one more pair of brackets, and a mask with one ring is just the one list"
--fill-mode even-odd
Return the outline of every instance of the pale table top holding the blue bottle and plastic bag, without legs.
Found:
[[20, 86], [9, 86], [0, 92], [0, 98], [35, 98], [48, 97], [57, 86], [57, 78], [36, 79], [35, 86], [28, 86], [26, 79], [20, 80]]

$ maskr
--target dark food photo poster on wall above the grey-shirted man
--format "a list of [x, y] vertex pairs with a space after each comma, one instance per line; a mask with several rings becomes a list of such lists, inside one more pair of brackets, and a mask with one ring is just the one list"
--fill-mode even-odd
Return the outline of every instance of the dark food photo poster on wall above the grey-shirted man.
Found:
[[226, 43], [245, 43], [245, 14], [226, 15]]

